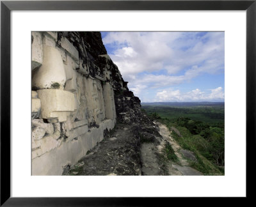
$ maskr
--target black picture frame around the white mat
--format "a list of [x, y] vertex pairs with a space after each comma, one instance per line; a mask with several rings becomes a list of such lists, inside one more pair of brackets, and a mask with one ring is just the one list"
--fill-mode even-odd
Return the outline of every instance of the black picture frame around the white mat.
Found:
[[153, 201], [164, 205], [169, 199], [10, 197], [10, 12], [12, 10], [246, 10], [246, 198], [253, 198], [254, 192], [251, 189], [255, 183], [255, 175], [252, 165], [255, 163], [253, 152], [256, 146], [255, 1], [1, 1], [1, 206], [150, 206]]

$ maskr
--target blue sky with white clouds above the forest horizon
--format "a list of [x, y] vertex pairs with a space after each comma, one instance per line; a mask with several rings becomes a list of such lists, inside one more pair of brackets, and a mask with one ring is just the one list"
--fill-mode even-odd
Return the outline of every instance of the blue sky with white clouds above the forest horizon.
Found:
[[224, 102], [224, 32], [102, 32], [141, 102]]

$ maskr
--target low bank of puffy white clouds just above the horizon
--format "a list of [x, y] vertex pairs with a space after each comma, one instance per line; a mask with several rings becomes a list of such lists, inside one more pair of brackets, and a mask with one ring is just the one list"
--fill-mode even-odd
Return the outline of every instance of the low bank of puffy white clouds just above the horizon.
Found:
[[211, 89], [211, 93], [196, 88], [187, 93], [178, 90], [165, 89], [156, 94], [157, 102], [202, 102], [202, 101], [224, 101], [223, 88]]

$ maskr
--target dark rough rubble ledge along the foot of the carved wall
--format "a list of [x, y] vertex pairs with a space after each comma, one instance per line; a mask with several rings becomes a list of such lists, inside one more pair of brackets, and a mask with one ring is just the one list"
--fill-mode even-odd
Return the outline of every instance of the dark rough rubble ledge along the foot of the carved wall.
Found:
[[132, 125], [117, 124], [64, 175], [141, 175], [140, 142]]

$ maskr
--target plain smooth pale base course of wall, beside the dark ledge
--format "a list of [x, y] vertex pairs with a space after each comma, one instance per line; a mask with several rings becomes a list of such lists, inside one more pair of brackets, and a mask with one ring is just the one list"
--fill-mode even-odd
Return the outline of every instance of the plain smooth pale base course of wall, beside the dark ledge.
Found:
[[[54, 123], [54, 125], [60, 123]], [[106, 119], [99, 128], [90, 128], [90, 132], [79, 135], [77, 139], [62, 142], [60, 146], [47, 153], [43, 153], [41, 148], [32, 150], [32, 174], [33, 175], [60, 175], [62, 167], [67, 164], [75, 164], [81, 157], [86, 155], [97, 142], [103, 139], [104, 129], [115, 127], [115, 120]], [[43, 144], [40, 142], [40, 144]], [[38, 146], [40, 146], [38, 144]], [[35, 145], [36, 146], [36, 145]]]

